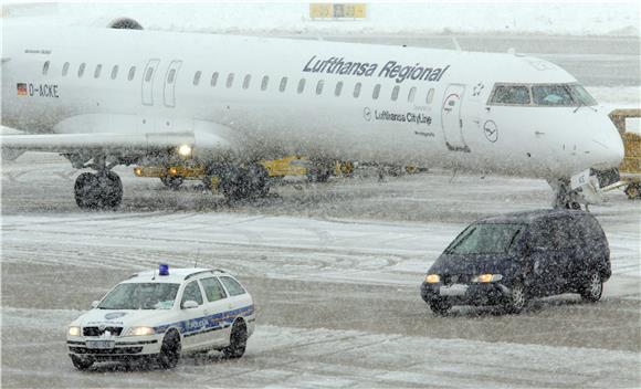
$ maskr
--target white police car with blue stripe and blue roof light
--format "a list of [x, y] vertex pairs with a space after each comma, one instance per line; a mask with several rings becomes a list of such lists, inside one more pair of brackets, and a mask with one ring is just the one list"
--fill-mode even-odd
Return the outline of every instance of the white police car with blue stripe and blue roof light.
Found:
[[116, 285], [69, 327], [73, 365], [85, 370], [105, 360], [157, 360], [172, 368], [181, 353], [245, 351], [254, 330], [252, 296], [221, 270], [160, 265]]

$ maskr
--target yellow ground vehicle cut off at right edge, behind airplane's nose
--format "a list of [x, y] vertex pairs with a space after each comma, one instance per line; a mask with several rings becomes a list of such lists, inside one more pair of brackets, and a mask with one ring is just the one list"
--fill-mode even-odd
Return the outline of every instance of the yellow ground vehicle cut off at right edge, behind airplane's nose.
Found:
[[621, 181], [629, 199], [641, 199], [641, 135], [626, 132], [626, 119], [641, 117], [641, 109], [614, 109], [610, 118], [621, 133], [626, 155], [619, 166]]

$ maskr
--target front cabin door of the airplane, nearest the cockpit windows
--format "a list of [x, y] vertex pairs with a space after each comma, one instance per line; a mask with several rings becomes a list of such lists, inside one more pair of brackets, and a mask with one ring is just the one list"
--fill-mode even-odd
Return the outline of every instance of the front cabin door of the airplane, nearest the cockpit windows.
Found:
[[470, 148], [463, 139], [463, 119], [461, 118], [464, 94], [465, 85], [451, 84], [448, 86], [441, 108], [441, 125], [443, 126], [445, 145], [450, 150], [470, 153]]

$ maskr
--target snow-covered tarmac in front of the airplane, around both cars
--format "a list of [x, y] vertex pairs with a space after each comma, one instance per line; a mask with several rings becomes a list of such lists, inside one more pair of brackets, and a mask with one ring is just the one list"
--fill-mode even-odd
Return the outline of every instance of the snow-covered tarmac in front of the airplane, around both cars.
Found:
[[[428, 172], [379, 182], [367, 171], [291, 182], [228, 203], [188, 183], [123, 177], [116, 212], [81, 212], [75, 172], [55, 156], [2, 166], [2, 387], [638, 387], [639, 202], [592, 207], [612, 252], [603, 299], [535, 301], [431, 314], [418, 286], [469, 222], [547, 208], [544, 181]], [[245, 357], [188, 357], [174, 371], [99, 365], [77, 372], [66, 325], [133, 272], [221, 266], [253, 293]]]

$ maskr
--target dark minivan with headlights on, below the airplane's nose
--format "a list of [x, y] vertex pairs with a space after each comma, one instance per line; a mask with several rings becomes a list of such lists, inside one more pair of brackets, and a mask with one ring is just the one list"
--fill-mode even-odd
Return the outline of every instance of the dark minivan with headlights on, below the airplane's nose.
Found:
[[539, 210], [482, 219], [454, 239], [430, 267], [421, 296], [437, 314], [453, 305], [502, 305], [519, 313], [533, 297], [601, 297], [610, 249], [584, 211]]

